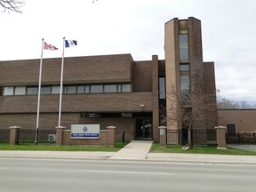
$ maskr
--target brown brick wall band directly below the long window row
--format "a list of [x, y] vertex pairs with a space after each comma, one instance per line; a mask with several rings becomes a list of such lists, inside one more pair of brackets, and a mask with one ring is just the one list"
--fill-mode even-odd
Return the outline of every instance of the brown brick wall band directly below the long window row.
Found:
[[[63, 112], [152, 110], [152, 92], [64, 94]], [[37, 96], [0, 97], [0, 113], [36, 113]], [[59, 95], [42, 95], [40, 112], [58, 112]]]

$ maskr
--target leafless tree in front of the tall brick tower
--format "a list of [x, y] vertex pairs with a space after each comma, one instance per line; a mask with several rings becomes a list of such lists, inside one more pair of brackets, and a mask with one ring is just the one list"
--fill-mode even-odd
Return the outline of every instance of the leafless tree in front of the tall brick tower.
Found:
[[[175, 92], [173, 87], [171, 92], [166, 93], [166, 97], [169, 105], [167, 108], [160, 107], [159, 111], [162, 124], [166, 124], [167, 121], [169, 126], [177, 125], [185, 128], [188, 132], [189, 148], [192, 148], [192, 129], [199, 127], [207, 129], [217, 125], [216, 94], [204, 94], [199, 90], [180, 94]], [[168, 108], [175, 108], [175, 110], [169, 110], [167, 116]], [[212, 121], [213, 118], [215, 121]]]

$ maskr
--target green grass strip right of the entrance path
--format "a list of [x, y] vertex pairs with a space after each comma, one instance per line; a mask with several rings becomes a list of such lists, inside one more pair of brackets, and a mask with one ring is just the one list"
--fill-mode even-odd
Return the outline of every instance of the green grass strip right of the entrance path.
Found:
[[184, 154], [215, 154], [215, 155], [237, 155], [237, 156], [256, 156], [254, 151], [246, 151], [236, 148], [217, 149], [217, 147], [195, 147], [183, 150], [182, 146], [172, 146], [163, 148], [159, 144], [154, 143], [150, 150], [151, 153], [184, 153]]

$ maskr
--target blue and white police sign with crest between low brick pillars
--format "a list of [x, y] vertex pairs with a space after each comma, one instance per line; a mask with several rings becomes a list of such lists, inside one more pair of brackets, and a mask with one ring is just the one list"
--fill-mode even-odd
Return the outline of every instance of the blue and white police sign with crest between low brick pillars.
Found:
[[71, 139], [99, 139], [100, 124], [71, 124]]

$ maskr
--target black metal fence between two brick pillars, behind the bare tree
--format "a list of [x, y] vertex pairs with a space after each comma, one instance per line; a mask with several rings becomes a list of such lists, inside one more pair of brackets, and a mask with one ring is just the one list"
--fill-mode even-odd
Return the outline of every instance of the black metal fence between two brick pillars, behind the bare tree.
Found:
[[[167, 130], [167, 146], [188, 144], [188, 130]], [[191, 142], [195, 147], [217, 145], [216, 130], [191, 130]]]

